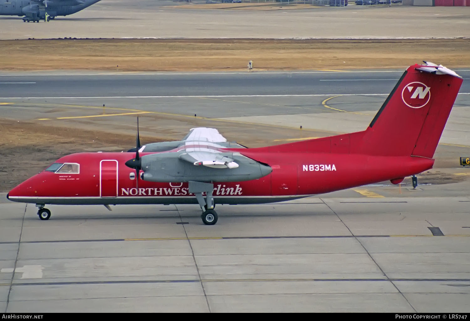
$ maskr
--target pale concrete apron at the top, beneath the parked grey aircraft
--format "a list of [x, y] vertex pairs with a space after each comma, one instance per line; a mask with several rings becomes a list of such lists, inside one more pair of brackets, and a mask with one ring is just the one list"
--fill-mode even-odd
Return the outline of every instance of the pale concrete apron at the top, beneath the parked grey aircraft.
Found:
[[0, 39], [470, 37], [469, 7], [370, 8], [351, 1], [347, 7], [291, 10], [284, 5], [271, 11], [200, 9], [206, 8], [204, 4], [194, 5], [195, 9], [169, 8], [178, 4], [102, 0], [48, 23], [0, 16]]

